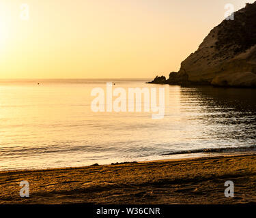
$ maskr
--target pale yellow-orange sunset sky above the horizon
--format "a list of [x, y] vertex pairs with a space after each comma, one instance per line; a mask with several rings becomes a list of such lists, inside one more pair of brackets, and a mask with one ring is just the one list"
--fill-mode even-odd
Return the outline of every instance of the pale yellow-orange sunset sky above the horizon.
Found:
[[[0, 78], [152, 78], [254, 0], [0, 0]], [[29, 19], [20, 5], [29, 5]]]

